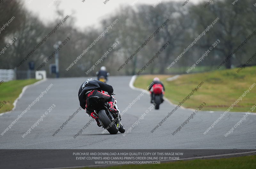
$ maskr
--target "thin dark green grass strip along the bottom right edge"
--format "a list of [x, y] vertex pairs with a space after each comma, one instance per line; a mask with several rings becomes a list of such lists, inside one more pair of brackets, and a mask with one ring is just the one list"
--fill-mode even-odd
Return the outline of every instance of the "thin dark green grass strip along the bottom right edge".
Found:
[[[256, 155], [244, 157], [232, 157], [221, 159], [196, 159], [188, 161], [176, 161], [162, 164], [147, 164], [147, 165], [123, 165], [106, 167], [105, 169], [253, 169], [256, 168]], [[87, 169], [87, 167], [82, 168]], [[103, 168], [98, 168], [103, 169]]]

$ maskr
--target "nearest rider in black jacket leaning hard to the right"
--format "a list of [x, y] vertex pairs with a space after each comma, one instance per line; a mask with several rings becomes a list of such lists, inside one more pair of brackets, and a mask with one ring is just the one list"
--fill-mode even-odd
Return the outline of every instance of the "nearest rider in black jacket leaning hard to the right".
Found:
[[[102, 93], [102, 91], [106, 91], [110, 95]], [[113, 113], [118, 113], [118, 110], [114, 108], [115, 98], [111, 96], [113, 94], [113, 91], [114, 89], [111, 85], [92, 78], [87, 79], [79, 88], [78, 99], [80, 102], [80, 106], [86, 110], [86, 113], [89, 116], [96, 120], [99, 127], [101, 126], [99, 122], [99, 117], [94, 112], [94, 108], [89, 104], [89, 98], [92, 96], [103, 97], [105, 102], [108, 102], [109, 104], [109, 111]]]

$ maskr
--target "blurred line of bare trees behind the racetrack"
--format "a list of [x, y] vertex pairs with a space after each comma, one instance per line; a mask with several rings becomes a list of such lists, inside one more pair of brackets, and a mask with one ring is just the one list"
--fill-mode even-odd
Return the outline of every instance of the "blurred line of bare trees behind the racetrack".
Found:
[[[56, 19], [45, 25], [39, 18], [28, 12], [22, 2], [4, 1], [0, 4], [2, 14], [0, 29], [12, 17], [15, 18], [7, 27], [1, 29], [0, 50], [7, 44], [10, 46], [0, 55], [0, 68], [27, 70], [29, 61], [34, 61], [35, 67], [39, 67], [56, 50], [53, 45], [65, 40], [65, 45], [58, 50], [60, 77], [94, 76], [101, 66], [106, 66], [111, 75], [136, 74], [161, 49], [163, 50], [159, 56], [143, 70], [142, 74], [186, 73], [210, 47], [212, 47], [210, 53], [190, 73], [243, 65], [256, 52], [253, 47], [256, 42], [254, 1], [244, 0], [232, 4], [232, 0], [216, 0], [205, 8], [204, 5], [207, 2], [189, 3], [185, 6], [180, 2], [162, 2], [156, 7], [152, 5], [123, 6], [111, 17], [101, 20], [100, 25], [86, 27], [83, 31], [74, 26], [76, 18], [68, 15], [68, 20], [28, 58], [27, 62], [17, 67], [31, 49], [44, 39], [67, 14], [56, 7]], [[212, 24], [216, 18], [219, 20]], [[166, 20], [168, 23], [163, 26]], [[113, 25], [114, 21], [116, 23]], [[161, 25], [162, 28], [159, 30]], [[106, 32], [109, 26], [111, 29]], [[209, 30], [205, 32], [207, 28]], [[158, 33], [154, 38], [151, 38], [141, 50], [135, 52], [156, 30]], [[102, 34], [104, 31], [106, 33]], [[191, 46], [190, 44], [200, 34], [202, 35], [202, 32], [204, 35]], [[14, 37], [17, 40], [13, 42]], [[246, 43], [245, 39], [247, 39]], [[217, 40], [220, 41], [218, 44], [215, 43]], [[13, 43], [10, 43], [11, 41]], [[97, 43], [85, 53], [84, 51], [95, 41]], [[170, 44], [165, 45], [168, 41]], [[85, 72], [88, 72], [106, 51], [109, 51], [108, 56], [87, 75]], [[229, 57], [230, 55], [232, 56]], [[81, 59], [67, 71], [66, 69], [78, 56], [81, 56], [79, 57]], [[125, 64], [129, 58], [132, 59]], [[167, 67], [173, 61], [176, 61], [175, 64], [168, 69]], [[54, 77], [49, 74], [49, 65], [52, 63], [54, 59], [49, 60], [41, 68], [47, 71], [48, 77]], [[221, 63], [223, 66], [217, 68]], [[253, 60], [250, 64], [255, 63]], [[123, 64], [125, 66], [118, 70]]]

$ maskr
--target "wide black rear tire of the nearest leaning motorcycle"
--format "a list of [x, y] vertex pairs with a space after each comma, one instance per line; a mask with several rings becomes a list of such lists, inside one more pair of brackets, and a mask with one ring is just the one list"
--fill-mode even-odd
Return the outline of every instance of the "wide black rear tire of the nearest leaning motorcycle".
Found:
[[118, 133], [116, 123], [110, 121], [105, 110], [100, 110], [98, 116], [101, 123], [103, 124], [104, 129], [108, 130], [110, 134]]

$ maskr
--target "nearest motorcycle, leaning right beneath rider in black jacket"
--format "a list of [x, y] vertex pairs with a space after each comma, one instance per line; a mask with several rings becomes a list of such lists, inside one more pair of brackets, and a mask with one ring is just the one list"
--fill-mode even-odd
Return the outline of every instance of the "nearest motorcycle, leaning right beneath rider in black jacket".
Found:
[[108, 102], [105, 102], [103, 97], [90, 97], [89, 102], [94, 108], [94, 112], [99, 116], [99, 122], [102, 128], [108, 130], [110, 134], [116, 134], [118, 131], [120, 133], [125, 132], [124, 125], [121, 122], [120, 111], [116, 105], [116, 100], [115, 109], [118, 110], [118, 113], [111, 113], [109, 111]]

